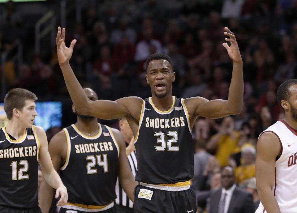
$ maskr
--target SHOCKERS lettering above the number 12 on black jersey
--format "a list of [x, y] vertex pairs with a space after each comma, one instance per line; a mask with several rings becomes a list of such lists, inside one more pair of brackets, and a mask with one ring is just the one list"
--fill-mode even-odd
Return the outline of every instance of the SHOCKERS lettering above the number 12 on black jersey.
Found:
[[31, 156], [36, 156], [36, 154], [37, 154], [37, 146], [1, 149], [0, 150], [0, 159], [31, 157]]

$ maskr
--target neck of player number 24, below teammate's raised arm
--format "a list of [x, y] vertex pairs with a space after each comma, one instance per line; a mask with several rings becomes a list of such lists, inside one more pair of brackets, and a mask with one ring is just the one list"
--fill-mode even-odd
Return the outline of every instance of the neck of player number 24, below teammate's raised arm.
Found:
[[80, 132], [88, 136], [94, 136], [99, 132], [97, 118], [82, 119], [78, 117], [75, 126], [78, 130], [80, 130]]

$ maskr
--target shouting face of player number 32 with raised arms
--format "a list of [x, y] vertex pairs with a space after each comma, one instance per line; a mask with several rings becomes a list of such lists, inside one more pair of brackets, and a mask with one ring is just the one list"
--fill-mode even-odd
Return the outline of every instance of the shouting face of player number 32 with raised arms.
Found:
[[172, 91], [175, 73], [168, 61], [160, 59], [149, 62], [145, 77], [152, 93], [158, 98], [164, 98]]

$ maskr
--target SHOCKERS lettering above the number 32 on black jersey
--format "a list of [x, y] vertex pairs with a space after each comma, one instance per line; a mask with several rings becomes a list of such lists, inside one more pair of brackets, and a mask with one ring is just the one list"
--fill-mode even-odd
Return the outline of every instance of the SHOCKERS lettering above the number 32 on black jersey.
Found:
[[170, 127], [185, 126], [184, 117], [173, 117], [171, 119], [149, 118], [145, 119], [145, 127], [167, 129]]

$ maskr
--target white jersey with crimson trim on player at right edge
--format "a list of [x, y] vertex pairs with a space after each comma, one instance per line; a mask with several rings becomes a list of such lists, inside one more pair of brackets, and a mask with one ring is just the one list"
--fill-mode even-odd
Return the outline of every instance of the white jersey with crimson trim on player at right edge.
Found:
[[[292, 129], [284, 120], [279, 120], [264, 132], [274, 133], [281, 144], [281, 156], [275, 162], [273, 194], [282, 213], [296, 213], [297, 131]], [[262, 203], [260, 203], [256, 213], [267, 213]]]

